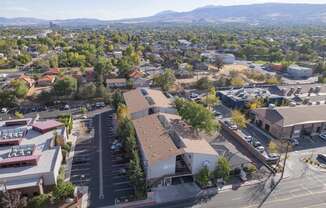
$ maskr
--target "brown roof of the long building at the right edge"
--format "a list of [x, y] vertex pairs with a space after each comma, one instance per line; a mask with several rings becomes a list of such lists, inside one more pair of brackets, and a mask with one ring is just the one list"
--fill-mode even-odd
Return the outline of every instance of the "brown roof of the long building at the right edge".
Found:
[[326, 105], [259, 108], [255, 112], [272, 123], [279, 123], [282, 127], [326, 122]]

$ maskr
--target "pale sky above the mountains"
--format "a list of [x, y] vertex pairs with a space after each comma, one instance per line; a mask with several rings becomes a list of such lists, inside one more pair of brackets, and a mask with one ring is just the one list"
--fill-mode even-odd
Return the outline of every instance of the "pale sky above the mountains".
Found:
[[0, 0], [0, 17], [42, 19], [146, 17], [165, 10], [190, 11], [207, 5], [266, 2], [326, 3], [326, 0]]

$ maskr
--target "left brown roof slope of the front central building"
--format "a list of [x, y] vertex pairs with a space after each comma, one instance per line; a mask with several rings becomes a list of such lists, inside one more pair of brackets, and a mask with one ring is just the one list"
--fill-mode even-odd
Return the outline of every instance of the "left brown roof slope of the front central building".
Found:
[[156, 114], [133, 121], [137, 138], [149, 165], [183, 153], [162, 126]]

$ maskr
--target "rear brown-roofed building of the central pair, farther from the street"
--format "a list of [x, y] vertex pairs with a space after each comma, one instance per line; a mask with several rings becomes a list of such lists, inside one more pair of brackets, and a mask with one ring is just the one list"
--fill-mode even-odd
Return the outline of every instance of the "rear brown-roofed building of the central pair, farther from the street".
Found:
[[144, 117], [154, 113], [176, 114], [172, 101], [160, 90], [137, 88], [123, 94], [132, 119]]

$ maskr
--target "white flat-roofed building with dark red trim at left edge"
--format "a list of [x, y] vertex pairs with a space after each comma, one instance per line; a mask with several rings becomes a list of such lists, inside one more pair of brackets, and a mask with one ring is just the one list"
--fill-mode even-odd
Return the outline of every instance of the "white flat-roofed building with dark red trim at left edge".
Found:
[[57, 183], [62, 153], [56, 144], [66, 140], [64, 125], [58, 124], [32, 119], [0, 122], [0, 190], [33, 195]]

